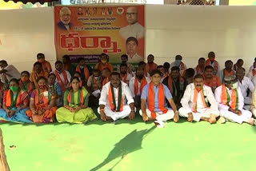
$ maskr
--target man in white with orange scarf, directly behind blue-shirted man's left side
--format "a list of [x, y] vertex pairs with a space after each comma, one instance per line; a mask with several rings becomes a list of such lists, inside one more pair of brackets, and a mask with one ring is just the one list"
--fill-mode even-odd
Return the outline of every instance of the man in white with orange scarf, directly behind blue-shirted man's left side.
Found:
[[150, 79], [144, 76], [144, 70], [142, 67], [138, 67], [135, 76], [131, 78], [129, 82], [130, 91], [134, 97], [136, 107], [141, 107], [142, 89], [148, 83], [150, 83]]

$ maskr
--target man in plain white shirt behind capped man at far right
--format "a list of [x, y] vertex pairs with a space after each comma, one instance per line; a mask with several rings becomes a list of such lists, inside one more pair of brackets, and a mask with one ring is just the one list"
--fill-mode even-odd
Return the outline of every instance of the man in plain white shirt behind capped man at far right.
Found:
[[[246, 70], [242, 67], [238, 68], [236, 71], [236, 76], [238, 78], [238, 85], [241, 89], [242, 96], [244, 97], [243, 106], [244, 109], [250, 110], [251, 105], [251, 94], [254, 92], [254, 83], [250, 81], [250, 78], [245, 77]], [[247, 90], [250, 90], [249, 96], [247, 96]]]

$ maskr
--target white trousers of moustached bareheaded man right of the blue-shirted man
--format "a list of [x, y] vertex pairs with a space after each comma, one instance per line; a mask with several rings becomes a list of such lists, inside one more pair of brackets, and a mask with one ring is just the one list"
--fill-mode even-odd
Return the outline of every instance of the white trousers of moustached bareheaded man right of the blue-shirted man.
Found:
[[[187, 109], [185, 109], [183, 107], [178, 109], [178, 112], [179, 112], [179, 116], [181, 116], [181, 117], [189, 117], [190, 111], [188, 111]], [[192, 112], [193, 121], [200, 121], [201, 117], [210, 118], [210, 114], [214, 114], [215, 117], [219, 116], [219, 112], [218, 111], [213, 111], [213, 109], [207, 109], [207, 108], [206, 109], [200, 109], [200, 111], [197, 112], [197, 113]]]

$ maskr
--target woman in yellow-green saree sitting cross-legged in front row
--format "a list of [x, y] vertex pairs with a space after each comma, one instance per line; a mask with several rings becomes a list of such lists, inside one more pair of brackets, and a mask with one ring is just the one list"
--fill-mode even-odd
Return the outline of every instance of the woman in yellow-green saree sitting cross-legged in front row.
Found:
[[64, 107], [56, 112], [58, 122], [84, 123], [96, 119], [94, 111], [88, 107], [89, 93], [79, 85], [79, 78], [70, 80], [70, 89], [64, 93]]

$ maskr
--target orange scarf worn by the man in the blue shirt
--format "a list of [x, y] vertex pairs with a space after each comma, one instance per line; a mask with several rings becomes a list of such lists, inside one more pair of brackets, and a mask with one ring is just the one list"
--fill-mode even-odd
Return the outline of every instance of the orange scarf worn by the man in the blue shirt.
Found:
[[[167, 113], [168, 109], [165, 108], [165, 93], [163, 89], [162, 83], [159, 83], [158, 89], [158, 108], [162, 111], [162, 113]], [[150, 82], [149, 85], [149, 92], [148, 92], [148, 107], [151, 112], [151, 117], [155, 119], [157, 117], [156, 113], [154, 112], [154, 85]]]

